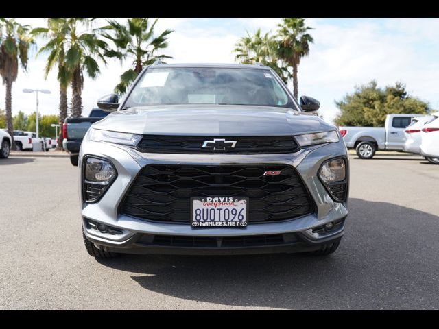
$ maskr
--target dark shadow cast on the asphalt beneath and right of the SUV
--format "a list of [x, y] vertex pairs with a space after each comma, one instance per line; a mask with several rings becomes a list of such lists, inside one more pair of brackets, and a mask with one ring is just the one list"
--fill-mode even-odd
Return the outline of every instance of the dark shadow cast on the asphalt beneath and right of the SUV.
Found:
[[327, 257], [126, 255], [99, 263], [193, 308], [438, 309], [439, 217], [362, 199], [349, 206], [342, 243]]

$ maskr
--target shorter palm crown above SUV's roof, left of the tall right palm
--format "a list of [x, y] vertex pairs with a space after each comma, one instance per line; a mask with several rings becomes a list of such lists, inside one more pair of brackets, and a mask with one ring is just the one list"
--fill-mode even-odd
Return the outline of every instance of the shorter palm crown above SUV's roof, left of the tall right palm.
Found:
[[277, 56], [278, 42], [269, 33], [261, 36], [261, 29], [254, 35], [247, 32], [247, 36], [239, 39], [235, 44], [235, 60], [241, 64], [255, 64], [257, 62], [270, 66], [285, 82], [288, 81], [289, 71], [285, 62]]

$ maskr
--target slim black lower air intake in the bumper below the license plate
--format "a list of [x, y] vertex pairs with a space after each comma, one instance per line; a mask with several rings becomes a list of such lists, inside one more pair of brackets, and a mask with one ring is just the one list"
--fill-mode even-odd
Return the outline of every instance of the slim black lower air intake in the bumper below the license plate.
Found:
[[176, 236], [144, 234], [137, 241], [143, 245], [166, 247], [236, 248], [283, 245], [298, 241], [294, 233], [255, 236]]

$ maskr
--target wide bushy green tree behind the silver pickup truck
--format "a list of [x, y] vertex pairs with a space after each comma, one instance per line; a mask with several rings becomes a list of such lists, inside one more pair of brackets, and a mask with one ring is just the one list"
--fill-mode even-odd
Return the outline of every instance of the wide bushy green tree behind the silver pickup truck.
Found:
[[341, 111], [335, 119], [337, 125], [366, 127], [382, 127], [387, 114], [427, 114], [431, 110], [427, 102], [408, 95], [402, 82], [379, 88], [375, 80], [355, 86], [354, 93], [335, 101], [335, 105]]

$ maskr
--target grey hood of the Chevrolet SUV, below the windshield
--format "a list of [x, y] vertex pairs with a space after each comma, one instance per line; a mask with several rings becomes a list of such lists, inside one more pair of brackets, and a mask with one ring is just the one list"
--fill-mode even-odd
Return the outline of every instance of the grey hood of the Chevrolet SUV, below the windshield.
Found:
[[319, 117], [269, 106], [168, 105], [112, 112], [93, 127], [187, 136], [291, 136], [335, 130]]

